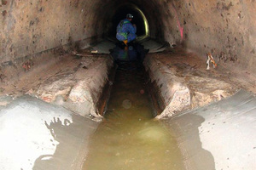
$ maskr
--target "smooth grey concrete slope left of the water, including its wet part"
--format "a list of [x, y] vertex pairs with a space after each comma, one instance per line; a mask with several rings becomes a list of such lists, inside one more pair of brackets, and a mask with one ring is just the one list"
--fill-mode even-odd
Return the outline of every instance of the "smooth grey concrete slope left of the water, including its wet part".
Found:
[[98, 123], [29, 96], [0, 111], [1, 169], [79, 169]]

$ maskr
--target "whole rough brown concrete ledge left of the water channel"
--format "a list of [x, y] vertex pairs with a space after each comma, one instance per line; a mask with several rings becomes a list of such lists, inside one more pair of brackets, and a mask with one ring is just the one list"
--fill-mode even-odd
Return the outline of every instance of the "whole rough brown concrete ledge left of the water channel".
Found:
[[[8, 77], [1, 83], [2, 96], [14, 98], [30, 94], [46, 102], [62, 105], [81, 116], [102, 117], [96, 104], [102, 88], [108, 82], [113, 61], [108, 55], [90, 54], [86, 49], [77, 54], [66, 54], [48, 64], [34, 65], [18, 79]], [[3, 101], [1, 104], [6, 105]]]

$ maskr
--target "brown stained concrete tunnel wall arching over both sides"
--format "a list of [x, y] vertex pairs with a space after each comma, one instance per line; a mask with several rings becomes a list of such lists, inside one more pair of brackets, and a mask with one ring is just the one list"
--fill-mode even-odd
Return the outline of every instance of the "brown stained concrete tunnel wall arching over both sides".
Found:
[[76, 42], [88, 47], [108, 36], [116, 11], [125, 3], [143, 11], [150, 37], [203, 56], [211, 52], [254, 70], [256, 3], [247, 1], [0, 1], [0, 62], [15, 61]]

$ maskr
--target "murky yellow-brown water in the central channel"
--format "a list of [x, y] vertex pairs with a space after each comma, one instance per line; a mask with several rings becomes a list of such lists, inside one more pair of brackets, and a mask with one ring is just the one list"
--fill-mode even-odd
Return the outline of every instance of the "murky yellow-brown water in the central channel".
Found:
[[154, 120], [142, 70], [116, 72], [105, 120], [90, 138], [84, 170], [184, 169], [172, 131]]

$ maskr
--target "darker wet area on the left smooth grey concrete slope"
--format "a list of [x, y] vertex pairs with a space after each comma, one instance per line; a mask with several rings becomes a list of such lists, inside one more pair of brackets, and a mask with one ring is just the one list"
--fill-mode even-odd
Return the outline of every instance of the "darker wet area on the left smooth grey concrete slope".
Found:
[[51, 159], [47, 159], [48, 155], [39, 156], [33, 169], [82, 169], [90, 133], [95, 131], [97, 124], [82, 116], [73, 115], [72, 118], [73, 123], [68, 127], [61, 126], [58, 121], [46, 125], [55, 132], [59, 144]]

